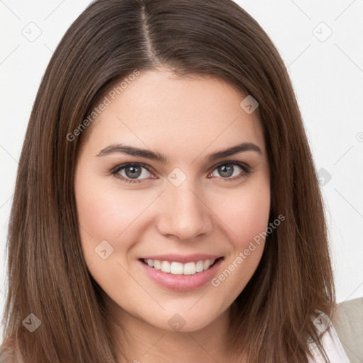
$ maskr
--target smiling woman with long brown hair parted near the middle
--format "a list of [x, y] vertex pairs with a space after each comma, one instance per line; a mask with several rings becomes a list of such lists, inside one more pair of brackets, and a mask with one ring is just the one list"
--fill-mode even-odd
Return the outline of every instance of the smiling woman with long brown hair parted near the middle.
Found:
[[344, 362], [334, 307], [313, 158], [267, 34], [230, 0], [94, 1], [30, 116], [4, 357]]

